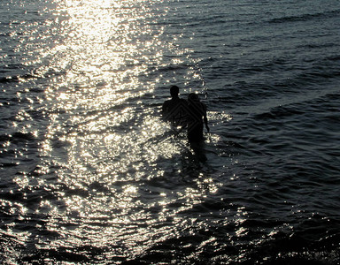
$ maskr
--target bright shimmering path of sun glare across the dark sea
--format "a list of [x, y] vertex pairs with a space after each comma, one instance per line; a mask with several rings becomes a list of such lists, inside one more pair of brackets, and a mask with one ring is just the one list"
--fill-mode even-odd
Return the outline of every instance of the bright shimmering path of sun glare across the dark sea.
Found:
[[[170, 128], [154, 107], [162, 78], [154, 72], [182, 64], [164, 53], [187, 51], [175, 50], [176, 38], [154, 25], [166, 14], [159, 1], [57, 3], [50, 21], [55, 45], [42, 53], [50, 64], [39, 71], [51, 76], [41, 153], [58, 176], [49, 185], [63, 205], [43, 207], [50, 208], [48, 229], [62, 236], [41, 247], [112, 246], [112, 257], [140, 254], [186, 227], [180, 213], [218, 189], [196, 165], [178, 160], [188, 152], [185, 140], [164, 137]], [[188, 174], [197, 178], [183, 186]]]

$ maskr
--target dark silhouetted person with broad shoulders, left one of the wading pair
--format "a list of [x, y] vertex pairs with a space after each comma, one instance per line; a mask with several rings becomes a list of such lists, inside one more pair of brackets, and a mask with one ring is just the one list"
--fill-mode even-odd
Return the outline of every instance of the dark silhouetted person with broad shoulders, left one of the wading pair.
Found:
[[171, 100], [163, 103], [163, 118], [174, 126], [183, 126], [186, 124], [186, 108], [188, 102], [181, 99], [178, 95], [180, 88], [177, 86], [170, 87]]

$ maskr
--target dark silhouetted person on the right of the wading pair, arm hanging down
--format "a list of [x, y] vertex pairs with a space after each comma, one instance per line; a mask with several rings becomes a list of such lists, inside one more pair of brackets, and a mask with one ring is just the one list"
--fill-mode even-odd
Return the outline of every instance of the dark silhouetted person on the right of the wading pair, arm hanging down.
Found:
[[203, 124], [207, 132], [210, 132], [208, 118], [206, 117], [205, 103], [200, 102], [198, 95], [191, 93], [188, 95], [188, 140], [198, 142], [203, 140]]

